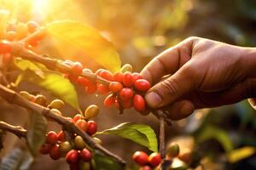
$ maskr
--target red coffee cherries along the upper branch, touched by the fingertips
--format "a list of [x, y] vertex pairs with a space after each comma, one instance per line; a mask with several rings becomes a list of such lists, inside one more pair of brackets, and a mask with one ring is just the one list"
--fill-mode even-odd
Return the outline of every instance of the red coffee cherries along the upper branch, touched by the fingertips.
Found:
[[115, 106], [120, 111], [130, 109], [131, 107], [134, 107], [139, 112], [145, 112], [147, 110], [143, 94], [150, 88], [150, 83], [143, 79], [139, 73], [131, 73], [131, 65], [124, 65], [121, 71], [114, 74], [104, 69], [97, 70], [95, 72], [97, 76], [109, 81], [109, 84], [106, 85], [92, 82], [86, 77], [81, 77], [83, 72], [93, 72], [87, 68], [83, 69], [83, 66], [79, 62], [66, 60], [63, 64], [69, 65], [72, 68], [68, 74], [64, 74], [64, 77], [67, 77], [71, 82], [76, 82], [83, 86], [87, 94], [93, 94], [95, 92], [98, 94], [108, 94], [104, 100], [106, 107]]

